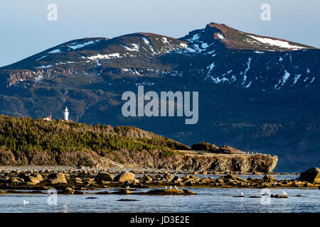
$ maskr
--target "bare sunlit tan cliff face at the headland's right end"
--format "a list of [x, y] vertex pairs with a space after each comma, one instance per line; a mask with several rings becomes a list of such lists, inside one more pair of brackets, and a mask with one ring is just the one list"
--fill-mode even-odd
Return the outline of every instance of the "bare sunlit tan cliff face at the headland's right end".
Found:
[[[198, 154], [198, 153], [196, 153]], [[210, 172], [265, 172], [270, 173], [277, 165], [276, 155], [221, 155], [201, 154], [194, 155], [188, 152], [178, 152], [172, 157], [155, 158], [149, 153], [130, 153], [122, 150], [121, 153], [110, 155], [111, 159], [117, 159], [124, 163], [124, 167], [151, 167], [168, 170], [187, 170]]]

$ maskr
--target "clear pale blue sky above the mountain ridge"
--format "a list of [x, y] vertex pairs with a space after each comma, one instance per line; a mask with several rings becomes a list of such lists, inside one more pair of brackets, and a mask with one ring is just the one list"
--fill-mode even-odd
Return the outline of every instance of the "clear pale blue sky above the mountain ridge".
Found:
[[[57, 21], [48, 20], [49, 4]], [[262, 4], [271, 21], [262, 21]], [[319, 0], [1, 0], [0, 67], [69, 40], [151, 32], [180, 38], [207, 23], [320, 48]]]

